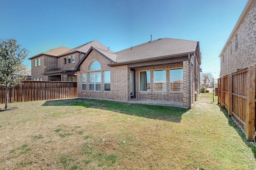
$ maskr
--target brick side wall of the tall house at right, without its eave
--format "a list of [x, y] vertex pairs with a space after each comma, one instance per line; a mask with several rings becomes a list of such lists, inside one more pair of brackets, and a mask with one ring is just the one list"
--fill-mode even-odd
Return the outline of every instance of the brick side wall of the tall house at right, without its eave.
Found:
[[221, 58], [221, 76], [256, 63], [256, 1], [238, 28], [237, 36], [238, 48], [235, 49], [236, 38], [232, 37]]

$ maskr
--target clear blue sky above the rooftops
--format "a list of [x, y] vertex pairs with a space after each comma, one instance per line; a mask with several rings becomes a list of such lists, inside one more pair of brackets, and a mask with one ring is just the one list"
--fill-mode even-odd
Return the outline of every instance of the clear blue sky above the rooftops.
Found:
[[[0, 38], [16, 38], [28, 58], [98, 40], [120, 51], [159, 38], [200, 42], [203, 72], [218, 57], [247, 0], [0, 0]], [[24, 64], [31, 68], [30, 60]]]

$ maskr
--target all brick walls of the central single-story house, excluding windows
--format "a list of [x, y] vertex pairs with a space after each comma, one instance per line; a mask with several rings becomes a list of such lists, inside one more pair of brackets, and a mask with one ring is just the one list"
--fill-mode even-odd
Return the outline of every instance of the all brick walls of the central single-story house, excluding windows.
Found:
[[[88, 73], [90, 73], [89, 66], [93, 61], [97, 61], [101, 66], [101, 90], [100, 92], [89, 91], [89, 80]], [[78, 98], [96, 98], [96, 99], [107, 99], [107, 100], [118, 100], [118, 101], [129, 101], [130, 100], [130, 68], [126, 65], [122, 66], [107, 66], [110, 61], [104, 58], [102, 55], [92, 50], [87, 58], [83, 61], [80, 66], [80, 71], [77, 72], [77, 86], [78, 86]], [[183, 68], [183, 92], [170, 92], [170, 69]], [[193, 66], [191, 67], [192, 71]], [[154, 92], [153, 90], [153, 70], [166, 70], [166, 92]], [[139, 88], [139, 74], [140, 71], [150, 70], [150, 91], [140, 92]], [[110, 84], [111, 91], [104, 92], [103, 85], [103, 72], [110, 71]], [[99, 72], [99, 71], [92, 71]], [[163, 64], [156, 66], [144, 66], [135, 68], [135, 82], [136, 82], [136, 99], [141, 100], [164, 100], [172, 102], [183, 102], [183, 107], [189, 107], [189, 95], [188, 95], [188, 61], [181, 63]], [[87, 74], [86, 79], [86, 91], [82, 91], [82, 74]], [[194, 81], [194, 73], [191, 75], [191, 80]], [[191, 100], [194, 101], [194, 83], [191, 83]]]

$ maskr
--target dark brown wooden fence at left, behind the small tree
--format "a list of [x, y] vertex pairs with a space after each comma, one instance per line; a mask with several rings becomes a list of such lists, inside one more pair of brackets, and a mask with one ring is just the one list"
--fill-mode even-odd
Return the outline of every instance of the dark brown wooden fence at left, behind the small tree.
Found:
[[[24, 81], [9, 90], [9, 103], [77, 97], [76, 82]], [[0, 88], [0, 102], [5, 103], [6, 89]]]

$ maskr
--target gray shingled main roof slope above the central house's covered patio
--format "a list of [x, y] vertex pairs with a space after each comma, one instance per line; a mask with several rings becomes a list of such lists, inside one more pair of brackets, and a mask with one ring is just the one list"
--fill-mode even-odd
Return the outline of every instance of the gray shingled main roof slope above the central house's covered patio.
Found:
[[164, 57], [183, 53], [194, 53], [197, 41], [162, 38], [118, 51], [116, 62], [123, 63], [141, 59]]

